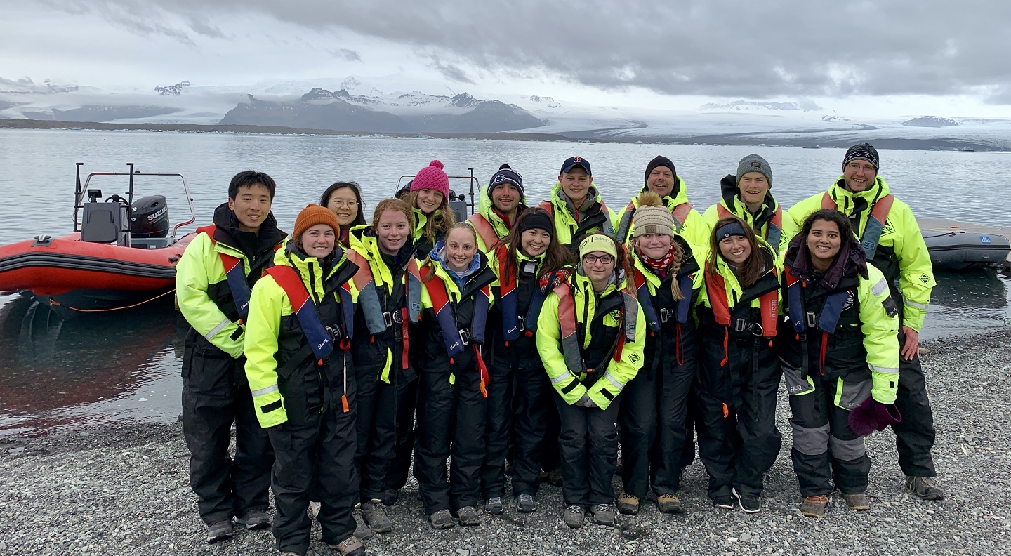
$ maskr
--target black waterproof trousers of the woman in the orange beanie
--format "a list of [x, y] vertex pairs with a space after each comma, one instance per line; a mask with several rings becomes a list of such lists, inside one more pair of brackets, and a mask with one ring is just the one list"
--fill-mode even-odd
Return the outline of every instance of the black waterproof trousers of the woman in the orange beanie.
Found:
[[277, 459], [271, 473], [274, 490], [274, 538], [280, 552], [305, 554], [312, 522], [306, 509], [309, 498], [319, 500], [316, 520], [323, 542], [339, 544], [355, 531], [353, 511], [358, 503], [359, 479], [355, 465], [358, 434], [354, 391], [349, 385], [351, 410], [340, 407], [319, 412], [309, 407], [304, 415], [272, 427], [270, 442]]

